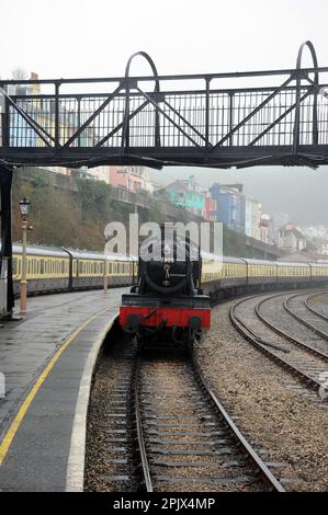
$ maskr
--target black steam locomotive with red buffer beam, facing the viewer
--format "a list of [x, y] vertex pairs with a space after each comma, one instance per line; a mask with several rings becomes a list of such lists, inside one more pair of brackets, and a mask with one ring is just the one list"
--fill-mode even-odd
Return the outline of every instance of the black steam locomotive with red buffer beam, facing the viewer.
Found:
[[211, 325], [210, 297], [201, 277], [197, 245], [162, 229], [140, 245], [137, 285], [122, 296], [120, 324], [142, 346], [173, 341], [192, 347]]

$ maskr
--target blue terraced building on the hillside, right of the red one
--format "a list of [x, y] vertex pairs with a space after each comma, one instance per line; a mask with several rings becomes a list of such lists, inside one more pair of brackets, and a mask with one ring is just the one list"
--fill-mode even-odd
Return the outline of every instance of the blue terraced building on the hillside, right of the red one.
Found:
[[216, 219], [230, 229], [245, 232], [245, 195], [242, 184], [214, 183], [210, 188], [211, 196], [216, 201]]

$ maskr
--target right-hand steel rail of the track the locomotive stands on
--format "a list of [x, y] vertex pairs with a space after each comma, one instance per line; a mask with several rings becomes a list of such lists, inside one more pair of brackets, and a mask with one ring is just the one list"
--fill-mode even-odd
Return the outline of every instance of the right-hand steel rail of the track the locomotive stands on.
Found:
[[193, 369], [195, 373], [196, 378], [199, 379], [199, 382], [201, 384], [202, 388], [206, 391], [207, 396], [210, 397], [212, 404], [215, 407], [217, 410], [219, 416], [225, 421], [225, 423], [228, 425], [230, 432], [233, 433], [234, 437], [238, 440], [240, 444], [240, 447], [242, 448], [244, 453], [246, 456], [249, 458], [249, 460], [252, 462], [252, 465], [259, 470], [260, 477], [263, 480], [263, 482], [272, 488], [273, 491], [276, 492], [285, 492], [285, 489], [283, 485], [280, 483], [280, 481], [273, 476], [273, 473], [269, 470], [268, 466], [264, 464], [264, 461], [260, 458], [258, 453], [255, 450], [255, 448], [250, 445], [250, 443], [245, 438], [245, 436], [241, 434], [233, 419], [229, 416], [220, 401], [218, 400], [217, 396], [214, 393], [212, 388], [210, 387], [208, 382], [205, 380], [197, 363], [195, 362], [194, 356], [192, 356], [192, 365]]

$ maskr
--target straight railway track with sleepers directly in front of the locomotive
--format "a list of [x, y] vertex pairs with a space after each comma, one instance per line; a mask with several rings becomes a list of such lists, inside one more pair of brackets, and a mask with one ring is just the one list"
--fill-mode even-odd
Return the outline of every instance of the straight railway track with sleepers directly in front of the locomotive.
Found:
[[284, 491], [191, 356], [145, 358], [131, 347], [109, 363], [116, 379], [102, 410], [105, 458], [87, 470], [87, 490]]

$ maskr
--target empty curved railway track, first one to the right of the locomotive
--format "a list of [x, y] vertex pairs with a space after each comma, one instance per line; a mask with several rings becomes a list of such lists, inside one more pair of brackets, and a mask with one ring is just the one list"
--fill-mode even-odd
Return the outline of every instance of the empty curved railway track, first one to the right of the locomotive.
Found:
[[[274, 294], [260, 299], [259, 296], [241, 299], [231, 307], [230, 321], [252, 345], [268, 357], [297, 376], [307, 387], [318, 389], [323, 384], [324, 374], [328, 373], [327, 342], [323, 341], [321, 335], [317, 333], [314, 336], [312, 330], [310, 334], [304, 335], [304, 328], [302, 328], [302, 340], [295, 335], [297, 331], [299, 334], [299, 328], [295, 331], [295, 328], [291, 327], [291, 320], [295, 323], [295, 318], [291, 318], [286, 312], [289, 317], [286, 320], [283, 313], [286, 300], [294, 295], [282, 300], [285, 295]], [[272, 301], [274, 302], [274, 318], [279, 319], [276, 323], [272, 322], [272, 312], [268, 314], [268, 307], [267, 313], [263, 314], [264, 305]]]

